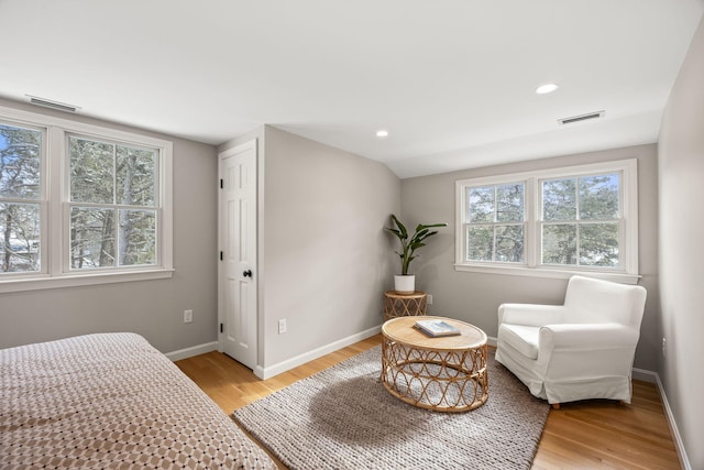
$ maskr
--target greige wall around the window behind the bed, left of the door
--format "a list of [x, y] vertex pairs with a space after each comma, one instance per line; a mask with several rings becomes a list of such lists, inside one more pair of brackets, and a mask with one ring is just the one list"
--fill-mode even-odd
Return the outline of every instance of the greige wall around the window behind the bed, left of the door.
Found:
[[[216, 149], [14, 101], [0, 105], [174, 142], [176, 270], [169, 280], [0, 294], [0, 348], [100, 331], [134, 331], [163, 352], [217, 340]], [[188, 308], [193, 324], [183, 323]]]

